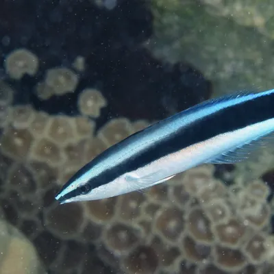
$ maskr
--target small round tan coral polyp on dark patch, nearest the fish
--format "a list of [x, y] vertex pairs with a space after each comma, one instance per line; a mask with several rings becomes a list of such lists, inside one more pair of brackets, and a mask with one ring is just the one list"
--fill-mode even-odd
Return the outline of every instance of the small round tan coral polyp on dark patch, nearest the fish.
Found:
[[97, 118], [101, 108], [107, 105], [107, 101], [99, 90], [93, 88], [84, 89], [78, 98], [78, 109], [83, 115]]

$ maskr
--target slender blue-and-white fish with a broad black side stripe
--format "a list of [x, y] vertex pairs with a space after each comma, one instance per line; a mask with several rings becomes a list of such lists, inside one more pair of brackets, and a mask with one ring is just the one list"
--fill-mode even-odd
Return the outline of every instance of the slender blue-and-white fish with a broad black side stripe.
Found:
[[274, 90], [240, 92], [179, 112], [103, 151], [67, 182], [60, 203], [114, 197], [203, 163], [249, 158], [271, 140]]

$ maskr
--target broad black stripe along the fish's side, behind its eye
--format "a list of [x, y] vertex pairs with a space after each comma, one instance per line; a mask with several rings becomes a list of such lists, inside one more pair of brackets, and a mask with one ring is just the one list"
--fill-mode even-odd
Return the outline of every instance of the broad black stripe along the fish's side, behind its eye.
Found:
[[[106, 169], [98, 175], [96, 178], [92, 178], [90, 184], [92, 188], [97, 188], [108, 182], [112, 182], [116, 177], [123, 175], [124, 173], [134, 171], [142, 166], [149, 164], [159, 158], [169, 155], [189, 147], [190, 145], [203, 142], [219, 134], [226, 132], [233, 132], [236, 129], [241, 129], [247, 125], [254, 123], [260, 123], [268, 119], [274, 118], [274, 94], [264, 95], [244, 101], [236, 105], [229, 106], [214, 114], [203, 116], [203, 118], [177, 129], [173, 135], [168, 138], [162, 138], [157, 144], [151, 144], [151, 147], [146, 151], [140, 151], [132, 158], [125, 158], [121, 164], [112, 166], [110, 169]], [[195, 108], [197, 111], [197, 108]], [[184, 119], [184, 112], [181, 113], [180, 119]], [[173, 123], [173, 120], [170, 120]], [[117, 145], [114, 145], [110, 153], [115, 153], [119, 148], [123, 146], [123, 141]], [[107, 151], [99, 155], [95, 162], [100, 161], [104, 157], [108, 157]], [[75, 174], [74, 179], [79, 177], [83, 171], [92, 169], [94, 162], [90, 162], [87, 166], [84, 166], [82, 170]], [[73, 181], [70, 180], [71, 182]]]

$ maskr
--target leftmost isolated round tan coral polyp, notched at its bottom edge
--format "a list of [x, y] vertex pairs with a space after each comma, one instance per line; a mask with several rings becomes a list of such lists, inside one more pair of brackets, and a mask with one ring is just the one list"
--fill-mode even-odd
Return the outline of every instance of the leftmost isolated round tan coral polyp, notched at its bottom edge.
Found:
[[27, 49], [16, 49], [5, 59], [5, 71], [16, 80], [25, 74], [34, 76], [38, 71], [38, 58]]

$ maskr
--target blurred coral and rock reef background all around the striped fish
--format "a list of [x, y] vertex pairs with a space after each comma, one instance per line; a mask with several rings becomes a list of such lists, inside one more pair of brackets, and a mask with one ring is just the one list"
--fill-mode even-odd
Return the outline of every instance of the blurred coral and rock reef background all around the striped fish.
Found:
[[274, 273], [272, 147], [143, 192], [54, 199], [155, 121], [273, 88], [273, 12], [259, 0], [1, 1], [0, 274]]

